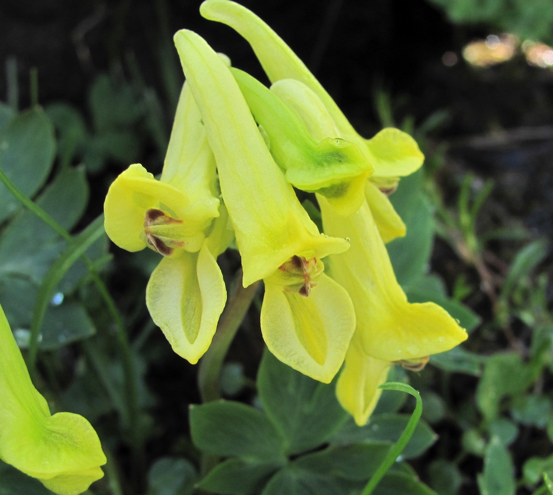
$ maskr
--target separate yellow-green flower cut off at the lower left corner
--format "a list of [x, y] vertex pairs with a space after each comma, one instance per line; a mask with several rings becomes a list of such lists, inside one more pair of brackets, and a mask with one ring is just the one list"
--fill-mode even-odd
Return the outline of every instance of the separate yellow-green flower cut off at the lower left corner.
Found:
[[100, 440], [79, 414], [50, 414], [34, 388], [0, 307], [0, 459], [59, 495], [77, 495], [103, 476]]

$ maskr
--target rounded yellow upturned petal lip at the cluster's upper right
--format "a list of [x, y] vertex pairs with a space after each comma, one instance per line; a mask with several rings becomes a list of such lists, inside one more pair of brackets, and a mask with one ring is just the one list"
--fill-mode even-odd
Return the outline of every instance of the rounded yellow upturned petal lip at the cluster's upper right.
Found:
[[409, 134], [393, 127], [382, 129], [366, 143], [375, 181], [385, 177], [411, 175], [424, 162], [424, 155], [416, 141]]

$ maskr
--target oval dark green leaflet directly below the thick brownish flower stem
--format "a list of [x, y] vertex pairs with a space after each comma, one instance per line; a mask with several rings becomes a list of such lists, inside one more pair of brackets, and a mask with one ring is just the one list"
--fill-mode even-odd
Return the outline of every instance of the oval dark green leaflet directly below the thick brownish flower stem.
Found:
[[190, 406], [192, 441], [218, 456], [251, 456], [279, 460], [284, 440], [267, 416], [246, 404], [216, 401]]

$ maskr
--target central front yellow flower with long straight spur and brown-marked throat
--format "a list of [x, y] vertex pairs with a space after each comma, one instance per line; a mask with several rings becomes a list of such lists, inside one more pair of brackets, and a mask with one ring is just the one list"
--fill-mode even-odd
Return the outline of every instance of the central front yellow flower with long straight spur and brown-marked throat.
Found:
[[264, 280], [261, 328], [269, 350], [316, 380], [342, 365], [355, 319], [321, 259], [349, 248], [320, 234], [275, 164], [229, 68], [195, 33], [175, 35], [186, 80], [217, 162], [242, 256], [243, 285]]

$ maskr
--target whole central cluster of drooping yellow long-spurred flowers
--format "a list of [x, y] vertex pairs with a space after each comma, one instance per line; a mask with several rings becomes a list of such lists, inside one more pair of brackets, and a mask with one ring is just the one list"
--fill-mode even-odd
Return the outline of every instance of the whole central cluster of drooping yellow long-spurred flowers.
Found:
[[[385, 248], [405, 234], [387, 194], [424, 157], [398, 129], [359, 136], [248, 9], [206, 0], [200, 12], [248, 41], [272, 86], [231, 67], [196, 33], [176, 33], [186, 82], [163, 173], [156, 180], [135, 164], [114, 181], [106, 231], [121, 248], [163, 255], [148, 308], [192, 363], [226, 302], [217, 255], [236, 239], [244, 287], [264, 282], [260, 324], [269, 350], [322, 382], [343, 366], [338, 399], [364, 424], [392, 364], [421, 368], [466, 339], [441, 307], [407, 301]], [[324, 233], [294, 187], [316, 194]]]

